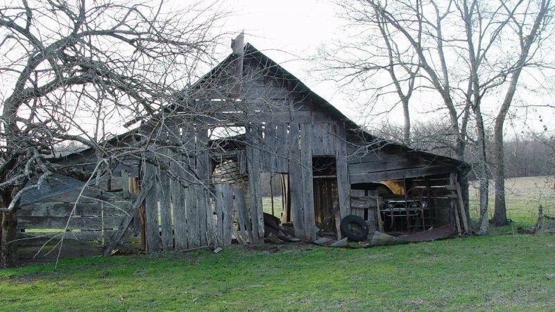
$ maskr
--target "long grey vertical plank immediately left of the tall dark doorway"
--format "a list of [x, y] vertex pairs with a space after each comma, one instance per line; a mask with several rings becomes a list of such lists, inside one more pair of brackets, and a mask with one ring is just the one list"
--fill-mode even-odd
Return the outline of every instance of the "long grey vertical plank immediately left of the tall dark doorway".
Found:
[[316, 220], [314, 217], [314, 182], [312, 181], [312, 125], [300, 124], [300, 164], [302, 184], [302, 207], [305, 223], [305, 238], [316, 239]]

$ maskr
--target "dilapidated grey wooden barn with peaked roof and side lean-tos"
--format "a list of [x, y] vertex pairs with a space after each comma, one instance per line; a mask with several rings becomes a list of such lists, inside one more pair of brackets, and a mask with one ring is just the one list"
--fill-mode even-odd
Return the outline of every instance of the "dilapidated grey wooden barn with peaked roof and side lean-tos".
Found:
[[348, 215], [370, 233], [468, 229], [466, 164], [370, 135], [241, 37], [130, 128], [104, 154], [56, 159], [81, 179], [56, 174], [22, 198], [22, 259], [263, 243], [263, 173], [280, 177], [278, 217], [303, 241], [341, 236]]

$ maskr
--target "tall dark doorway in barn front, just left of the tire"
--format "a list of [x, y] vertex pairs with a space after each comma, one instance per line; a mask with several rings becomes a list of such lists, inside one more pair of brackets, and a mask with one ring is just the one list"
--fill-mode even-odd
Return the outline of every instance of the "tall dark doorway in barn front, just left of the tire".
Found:
[[336, 224], [332, 214], [339, 197], [335, 157], [313, 157], [312, 175], [315, 224], [321, 227], [321, 234], [334, 235]]

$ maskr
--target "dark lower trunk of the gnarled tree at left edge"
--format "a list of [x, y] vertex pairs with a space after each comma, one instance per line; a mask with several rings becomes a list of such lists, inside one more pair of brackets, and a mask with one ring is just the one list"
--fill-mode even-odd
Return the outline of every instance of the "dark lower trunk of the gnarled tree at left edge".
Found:
[[0, 239], [0, 268], [17, 266], [17, 216], [2, 213]]

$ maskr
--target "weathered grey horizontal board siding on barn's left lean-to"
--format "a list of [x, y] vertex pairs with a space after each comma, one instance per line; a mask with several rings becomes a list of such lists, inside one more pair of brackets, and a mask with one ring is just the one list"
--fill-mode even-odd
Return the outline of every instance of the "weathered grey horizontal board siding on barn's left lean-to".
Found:
[[[17, 211], [18, 257], [22, 261], [98, 256], [110, 243], [136, 194], [87, 187], [20, 207]], [[116, 249], [138, 250], [133, 224]], [[60, 249], [61, 248], [61, 249]]]

